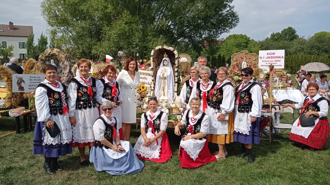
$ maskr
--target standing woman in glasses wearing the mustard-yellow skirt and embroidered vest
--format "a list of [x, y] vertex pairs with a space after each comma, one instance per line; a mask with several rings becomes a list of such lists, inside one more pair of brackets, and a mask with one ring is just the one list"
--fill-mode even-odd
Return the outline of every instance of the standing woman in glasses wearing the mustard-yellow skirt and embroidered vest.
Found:
[[227, 79], [226, 67], [220, 67], [216, 74], [219, 82], [211, 90], [211, 106], [208, 114], [211, 120], [209, 141], [218, 144], [219, 151], [214, 153], [215, 157], [225, 159], [227, 156], [225, 144], [234, 142], [234, 86]]

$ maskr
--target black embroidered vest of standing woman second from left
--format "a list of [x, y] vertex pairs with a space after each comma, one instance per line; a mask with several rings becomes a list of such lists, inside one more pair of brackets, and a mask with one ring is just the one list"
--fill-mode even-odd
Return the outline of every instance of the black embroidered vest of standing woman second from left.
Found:
[[96, 107], [96, 80], [93, 77], [90, 77], [92, 80], [92, 100], [90, 99], [90, 95], [87, 93], [88, 86], [82, 85], [77, 79], [72, 78], [70, 82], [74, 82], [77, 84], [77, 99], [76, 99], [76, 110], [82, 109], [91, 109], [92, 107]]

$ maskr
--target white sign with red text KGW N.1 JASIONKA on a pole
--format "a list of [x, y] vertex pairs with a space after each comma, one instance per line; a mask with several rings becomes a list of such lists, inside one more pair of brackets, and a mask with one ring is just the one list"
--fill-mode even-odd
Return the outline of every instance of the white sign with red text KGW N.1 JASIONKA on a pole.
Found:
[[273, 64], [274, 68], [284, 68], [284, 50], [263, 50], [259, 51], [259, 68], [269, 69]]

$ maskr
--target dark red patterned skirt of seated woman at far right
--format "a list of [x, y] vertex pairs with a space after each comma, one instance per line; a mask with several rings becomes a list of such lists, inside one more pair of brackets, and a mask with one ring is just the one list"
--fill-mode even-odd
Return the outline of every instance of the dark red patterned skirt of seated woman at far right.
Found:
[[328, 119], [318, 120], [308, 138], [290, 133], [290, 140], [311, 146], [316, 149], [323, 149], [329, 137], [329, 121]]

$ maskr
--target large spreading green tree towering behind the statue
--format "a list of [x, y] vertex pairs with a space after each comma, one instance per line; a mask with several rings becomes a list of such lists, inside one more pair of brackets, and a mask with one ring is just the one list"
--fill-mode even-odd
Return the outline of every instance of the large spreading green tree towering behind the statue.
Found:
[[201, 52], [203, 40], [218, 38], [238, 24], [232, 1], [43, 0], [41, 8], [48, 25], [68, 34], [83, 57], [115, 57], [124, 51], [146, 58], [161, 44], [176, 47], [185, 42]]

